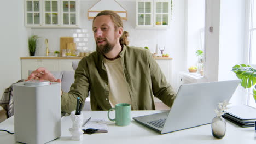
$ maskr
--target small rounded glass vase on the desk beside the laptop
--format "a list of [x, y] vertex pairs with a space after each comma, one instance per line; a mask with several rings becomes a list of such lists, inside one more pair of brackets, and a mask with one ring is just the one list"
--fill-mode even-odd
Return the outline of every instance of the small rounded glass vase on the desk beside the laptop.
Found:
[[212, 119], [212, 135], [222, 139], [226, 134], [226, 121], [222, 116], [216, 116]]

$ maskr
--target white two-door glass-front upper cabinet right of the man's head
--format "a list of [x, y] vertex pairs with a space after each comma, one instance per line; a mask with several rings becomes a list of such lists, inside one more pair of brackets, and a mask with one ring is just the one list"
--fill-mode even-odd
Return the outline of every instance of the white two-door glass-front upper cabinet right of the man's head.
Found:
[[170, 0], [137, 0], [136, 28], [166, 29], [171, 21]]

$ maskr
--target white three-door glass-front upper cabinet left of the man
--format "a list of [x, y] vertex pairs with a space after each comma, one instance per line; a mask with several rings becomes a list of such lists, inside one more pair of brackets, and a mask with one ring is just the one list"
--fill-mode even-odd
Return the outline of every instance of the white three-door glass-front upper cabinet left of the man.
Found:
[[26, 27], [78, 27], [78, 0], [24, 0]]

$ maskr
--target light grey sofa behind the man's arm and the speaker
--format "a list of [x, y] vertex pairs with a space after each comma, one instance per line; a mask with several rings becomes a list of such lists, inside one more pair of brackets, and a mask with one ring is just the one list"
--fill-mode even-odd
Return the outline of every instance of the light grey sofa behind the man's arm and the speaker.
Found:
[[[73, 61], [72, 62], [72, 71], [67, 71], [67, 70], [63, 70], [63, 71], [50, 71], [51, 74], [53, 74], [53, 76], [56, 79], [61, 79], [61, 89], [63, 92], [69, 92], [70, 86], [72, 85], [72, 83], [74, 83], [74, 71], [75, 69], [77, 69], [78, 66], [78, 62], [77, 61]], [[30, 74], [33, 70], [29, 70], [28, 73]], [[85, 100], [85, 105], [83, 110], [91, 110], [91, 103], [90, 103], [90, 93], [89, 93], [89, 97], [86, 98]]]

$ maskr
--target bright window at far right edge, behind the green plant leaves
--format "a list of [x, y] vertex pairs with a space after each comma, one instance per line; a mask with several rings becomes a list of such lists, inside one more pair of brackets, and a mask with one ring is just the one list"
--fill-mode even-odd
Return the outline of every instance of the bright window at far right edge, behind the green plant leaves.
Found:
[[[250, 9], [248, 10], [249, 25], [248, 28], [248, 51], [247, 61], [253, 68], [256, 68], [256, 0], [251, 0], [249, 3]], [[252, 88], [248, 89], [248, 105], [256, 107], [255, 100], [252, 95]]]

